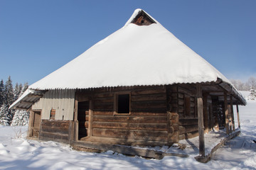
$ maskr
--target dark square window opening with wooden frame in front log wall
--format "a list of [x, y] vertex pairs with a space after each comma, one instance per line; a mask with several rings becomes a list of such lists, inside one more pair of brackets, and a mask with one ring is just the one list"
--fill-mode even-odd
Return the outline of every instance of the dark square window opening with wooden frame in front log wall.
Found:
[[114, 115], [129, 115], [131, 94], [122, 93], [114, 95]]

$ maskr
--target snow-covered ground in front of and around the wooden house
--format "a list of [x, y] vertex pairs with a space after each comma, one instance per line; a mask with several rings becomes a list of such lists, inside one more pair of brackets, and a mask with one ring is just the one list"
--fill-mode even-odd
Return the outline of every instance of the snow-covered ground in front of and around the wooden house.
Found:
[[218, 149], [207, 164], [196, 162], [194, 154], [188, 158], [156, 160], [127, 157], [112, 151], [78, 152], [58, 142], [26, 140], [27, 126], [0, 126], [0, 169], [256, 169], [255, 111], [256, 101], [240, 106], [242, 133]]

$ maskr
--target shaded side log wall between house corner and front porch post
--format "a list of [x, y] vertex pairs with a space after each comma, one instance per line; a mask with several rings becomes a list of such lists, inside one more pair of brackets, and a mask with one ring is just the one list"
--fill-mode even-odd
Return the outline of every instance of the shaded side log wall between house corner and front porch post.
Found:
[[171, 114], [169, 116], [170, 141], [178, 142], [178, 140], [198, 136], [196, 86], [188, 84], [168, 86], [167, 98], [169, 98]]

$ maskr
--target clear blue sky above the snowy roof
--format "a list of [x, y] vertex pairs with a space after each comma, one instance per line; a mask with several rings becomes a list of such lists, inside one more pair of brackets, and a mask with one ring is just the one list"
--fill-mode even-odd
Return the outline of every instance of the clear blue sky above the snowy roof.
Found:
[[33, 84], [122, 28], [136, 8], [228, 79], [256, 76], [254, 0], [0, 0], [0, 79]]

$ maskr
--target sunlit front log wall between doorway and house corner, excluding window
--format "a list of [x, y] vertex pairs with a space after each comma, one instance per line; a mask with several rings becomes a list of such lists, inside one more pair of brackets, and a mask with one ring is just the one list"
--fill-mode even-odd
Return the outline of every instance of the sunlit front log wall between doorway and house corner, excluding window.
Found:
[[[130, 95], [130, 112], [114, 115], [114, 96]], [[134, 86], [114, 89], [77, 91], [76, 98], [92, 98], [92, 139], [107, 138], [127, 145], [146, 144], [146, 141], [168, 143], [166, 121], [166, 87]], [[89, 115], [86, 112], [86, 120]], [[88, 128], [88, 123], [85, 123]], [[144, 141], [144, 142], [143, 142]]]

